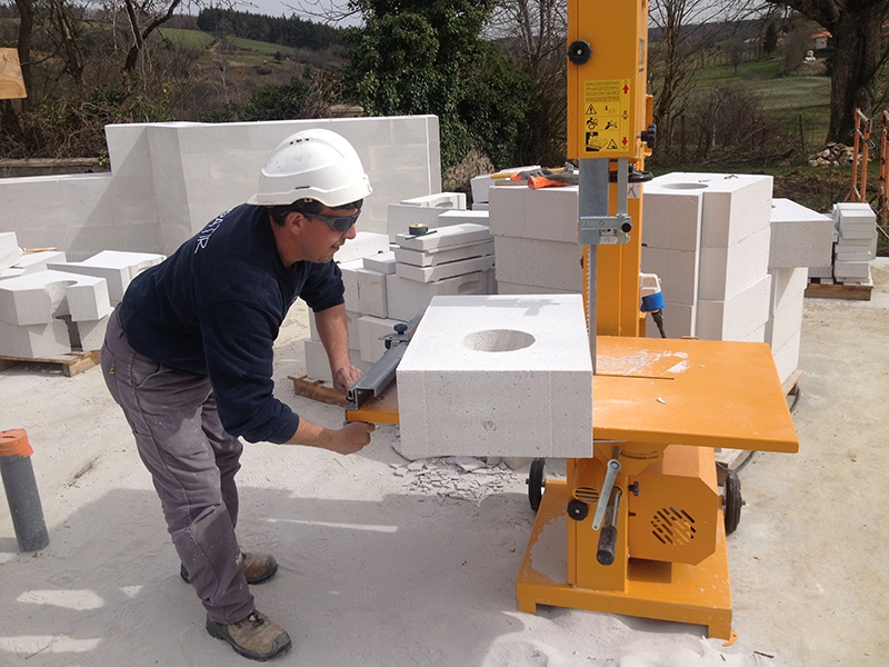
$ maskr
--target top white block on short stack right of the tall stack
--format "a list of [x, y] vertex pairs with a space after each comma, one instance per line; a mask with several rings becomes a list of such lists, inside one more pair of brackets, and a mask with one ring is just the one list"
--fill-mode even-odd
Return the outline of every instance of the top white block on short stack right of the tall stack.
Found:
[[769, 268], [823, 267], [830, 263], [833, 219], [790, 199], [773, 199]]

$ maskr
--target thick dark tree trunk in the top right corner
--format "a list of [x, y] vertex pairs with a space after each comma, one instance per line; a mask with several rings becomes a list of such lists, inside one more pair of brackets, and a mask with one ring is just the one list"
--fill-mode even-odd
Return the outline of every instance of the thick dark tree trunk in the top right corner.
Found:
[[873, 111], [875, 83], [886, 61], [882, 26], [889, 0], [767, 0], [789, 7], [828, 30], [833, 41], [827, 141], [850, 142], [855, 110]]

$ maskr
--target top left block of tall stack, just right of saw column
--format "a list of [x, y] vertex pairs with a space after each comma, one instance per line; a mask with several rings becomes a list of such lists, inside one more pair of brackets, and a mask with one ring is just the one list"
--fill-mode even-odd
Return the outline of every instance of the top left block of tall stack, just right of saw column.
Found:
[[702, 189], [665, 189], [657, 179], [643, 193], [642, 245], [697, 252], [701, 245]]

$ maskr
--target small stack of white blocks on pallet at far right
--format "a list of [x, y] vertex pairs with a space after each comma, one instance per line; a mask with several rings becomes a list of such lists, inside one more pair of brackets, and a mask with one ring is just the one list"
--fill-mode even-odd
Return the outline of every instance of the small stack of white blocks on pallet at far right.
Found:
[[837, 282], [863, 285], [870, 280], [870, 261], [877, 256], [877, 216], [868, 203], [833, 205], [837, 242], [833, 278]]

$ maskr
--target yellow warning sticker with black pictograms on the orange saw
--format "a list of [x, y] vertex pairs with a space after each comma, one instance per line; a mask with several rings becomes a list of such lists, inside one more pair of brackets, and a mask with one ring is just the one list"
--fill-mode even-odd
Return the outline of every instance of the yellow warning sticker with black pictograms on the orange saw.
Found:
[[587, 152], [630, 149], [630, 80], [583, 82], [583, 136]]

